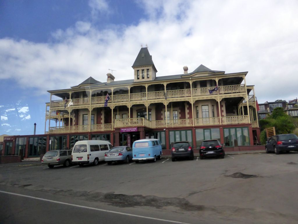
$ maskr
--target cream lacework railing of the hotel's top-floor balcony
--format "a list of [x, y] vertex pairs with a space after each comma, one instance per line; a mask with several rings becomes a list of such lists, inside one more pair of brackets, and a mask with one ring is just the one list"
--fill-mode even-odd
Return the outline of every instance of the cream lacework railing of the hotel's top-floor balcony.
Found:
[[[246, 92], [245, 85], [226, 85], [218, 86], [218, 91], [213, 91], [209, 93], [209, 90], [214, 89], [213, 87], [205, 88], [193, 88], [193, 89], [179, 89], [179, 90], [166, 90], [166, 91], [153, 91], [153, 92], [143, 92], [143, 93], [130, 93], [130, 94], [115, 94], [110, 96], [112, 102], [128, 102], [128, 101], [138, 101], [138, 100], [151, 100], [151, 99], [170, 99], [178, 97], [191, 97], [191, 96], [206, 96], [206, 95], [216, 95], [216, 94], [230, 94], [230, 93], [243, 93]], [[85, 98], [75, 98], [71, 99], [72, 105], [90, 105], [90, 104], [100, 104], [105, 102], [105, 96], [94, 96]], [[69, 103], [69, 99], [67, 100]], [[66, 101], [53, 100], [51, 101], [51, 108], [63, 107]]]

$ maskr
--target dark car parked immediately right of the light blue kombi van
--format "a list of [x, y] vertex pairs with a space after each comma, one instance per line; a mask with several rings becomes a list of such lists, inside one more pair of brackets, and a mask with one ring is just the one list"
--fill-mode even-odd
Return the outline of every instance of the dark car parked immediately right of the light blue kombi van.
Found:
[[189, 142], [174, 142], [172, 148], [172, 161], [177, 158], [188, 158], [193, 160], [193, 149]]

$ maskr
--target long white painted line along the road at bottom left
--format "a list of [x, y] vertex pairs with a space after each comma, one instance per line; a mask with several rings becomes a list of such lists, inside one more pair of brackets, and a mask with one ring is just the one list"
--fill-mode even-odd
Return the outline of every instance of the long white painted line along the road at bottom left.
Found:
[[100, 209], [100, 208], [87, 207], [87, 206], [83, 206], [83, 205], [75, 205], [75, 204], [70, 204], [70, 203], [66, 203], [66, 202], [54, 201], [54, 200], [49, 200], [49, 199], [44, 199], [44, 198], [39, 198], [39, 197], [32, 197], [32, 196], [24, 195], [24, 194], [11, 193], [11, 192], [7, 192], [7, 191], [0, 191], [0, 193], [12, 194], [12, 195], [16, 195], [16, 196], [32, 198], [32, 199], [41, 200], [41, 201], [57, 203], [57, 204], [61, 204], [61, 205], [70, 205], [70, 206], [74, 206], [74, 207], [78, 207], [78, 208], [86, 208], [86, 209], [110, 212], [110, 213], [120, 214], [120, 215], [127, 215], [127, 216], [133, 216], [133, 217], [139, 217], [139, 218], [145, 218], [145, 219], [151, 219], [151, 220], [165, 221], [165, 222], [169, 222], [169, 223], [190, 224], [190, 223], [182, 223], [182, 222], [166, 220], [166, 219], [158, 219], [158, 218], [153, 218], [153, 217], [147, 217], [147, 216], [142, 216], [142, 215], [134, 215], [134, 214], [129, 214], [129, 213], [123, 213], [123, 212], [119, 212], [119, 211], [111, 211], [111, 210], [105, 210], [105, 209]]

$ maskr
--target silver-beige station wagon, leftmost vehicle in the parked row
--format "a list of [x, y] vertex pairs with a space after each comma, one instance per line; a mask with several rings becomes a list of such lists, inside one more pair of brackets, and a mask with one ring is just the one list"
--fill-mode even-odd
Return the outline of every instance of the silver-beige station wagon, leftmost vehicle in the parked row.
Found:
[[68, 167], [72, 163], [72, 150], [51, 150], [44, 154], [41, 159], [42, 165], [53, 168], [55, 165]]

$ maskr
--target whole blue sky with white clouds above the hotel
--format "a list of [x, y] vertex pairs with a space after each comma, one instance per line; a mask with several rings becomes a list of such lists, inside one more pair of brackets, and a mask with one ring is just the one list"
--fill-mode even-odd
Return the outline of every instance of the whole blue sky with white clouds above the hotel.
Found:
[[[157, 76], [248, 71], [258, 102], [297, 97], [298, 2], [0, 1], [0, 135], [44, 133], [47, 90], [132, 79], [140, 46]], [[273, 13], [274, 12], [274, 13]]]

